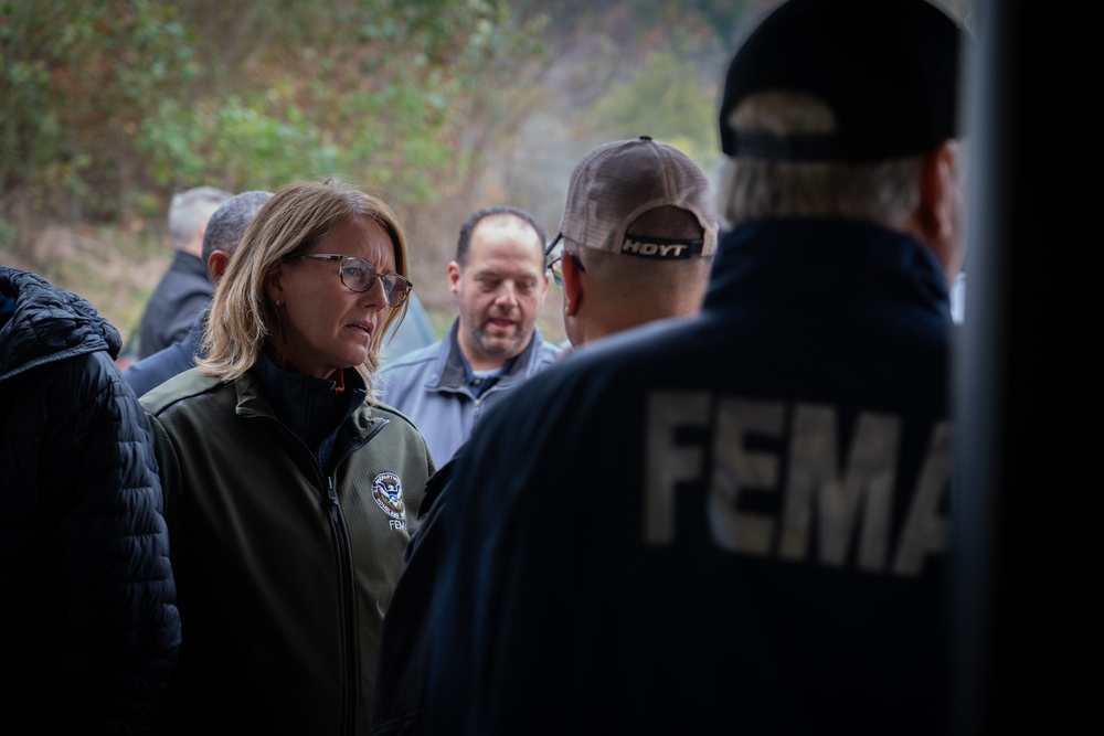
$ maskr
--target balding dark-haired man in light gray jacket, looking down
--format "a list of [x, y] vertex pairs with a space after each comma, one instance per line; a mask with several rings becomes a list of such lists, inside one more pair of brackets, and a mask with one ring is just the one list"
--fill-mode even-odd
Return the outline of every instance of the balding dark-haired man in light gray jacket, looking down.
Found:
[[408, 416], [444, 466], [480, 414], [552, 364], [537, 328], [549, 277], [544, 231], [531, 214], [490, 206], [460, 227], [448, 288], [459, 316], [445, 339], [384, 366], [380, 397]]

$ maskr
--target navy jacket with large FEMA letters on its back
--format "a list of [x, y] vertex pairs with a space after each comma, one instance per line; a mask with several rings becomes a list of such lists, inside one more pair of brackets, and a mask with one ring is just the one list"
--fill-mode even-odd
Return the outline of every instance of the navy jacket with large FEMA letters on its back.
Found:
[[698, 318], [520, 386], [440, 511], [422, 733], [945, 733], [951, 342], [920, 243], [763, 221]]

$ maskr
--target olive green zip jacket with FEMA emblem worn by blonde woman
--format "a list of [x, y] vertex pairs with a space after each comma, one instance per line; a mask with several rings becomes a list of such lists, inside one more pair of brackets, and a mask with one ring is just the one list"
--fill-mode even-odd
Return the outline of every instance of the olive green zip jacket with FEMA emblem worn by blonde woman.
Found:
[[253, 372], [192, 369], [141, 403], [182, 629], [157, 733], [367, 734], [383, 614], [434, 471], [425, 440], [364, 403], [323, 477]]

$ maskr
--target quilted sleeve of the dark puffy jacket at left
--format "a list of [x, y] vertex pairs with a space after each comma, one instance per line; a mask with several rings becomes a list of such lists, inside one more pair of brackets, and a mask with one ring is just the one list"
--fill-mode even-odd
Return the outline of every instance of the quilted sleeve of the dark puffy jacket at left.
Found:
[[61, 510], [50, 542], [61, 570], [60, 687], [65, 728], [131, 733], [152, 722], [180, 643], [152, 430], [104, 352], [59, 364], [43, 447], [43, 491]]

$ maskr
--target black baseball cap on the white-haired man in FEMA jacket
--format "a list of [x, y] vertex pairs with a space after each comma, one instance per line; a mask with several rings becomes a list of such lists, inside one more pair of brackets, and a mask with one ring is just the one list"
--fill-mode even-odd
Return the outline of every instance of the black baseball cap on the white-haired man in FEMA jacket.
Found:
[[[794, 161], [869, 162], [957, 138], [966, 33], [925, 0], [788, 0], [747, 36], [729, 66], [721, 150]], [[815, 95], [837, 132], [737, 135], [728, 122], [751, 93]]]

